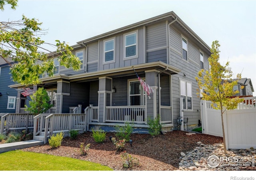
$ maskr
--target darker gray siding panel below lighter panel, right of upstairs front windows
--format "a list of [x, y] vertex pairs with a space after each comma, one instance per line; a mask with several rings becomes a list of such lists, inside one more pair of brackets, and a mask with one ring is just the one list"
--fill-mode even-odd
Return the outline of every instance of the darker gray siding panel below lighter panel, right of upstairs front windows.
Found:
[[147, 52], [147, 62], [156, 62], [156, 61], [162, 61], [164, 63], [167, 63], [166, 49]]

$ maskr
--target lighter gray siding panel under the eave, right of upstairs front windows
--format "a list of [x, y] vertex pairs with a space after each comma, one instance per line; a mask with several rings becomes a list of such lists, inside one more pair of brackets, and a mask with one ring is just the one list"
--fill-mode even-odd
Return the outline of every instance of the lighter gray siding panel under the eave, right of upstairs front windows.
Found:
[[166, 46], [166, 23], [154, 24], [147, 27], [147, 50]]

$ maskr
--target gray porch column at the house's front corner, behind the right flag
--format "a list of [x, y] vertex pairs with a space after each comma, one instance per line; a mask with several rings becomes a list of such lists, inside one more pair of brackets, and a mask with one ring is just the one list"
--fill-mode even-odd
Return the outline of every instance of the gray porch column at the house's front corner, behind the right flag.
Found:
[[158, 70], [145, 71], [146, 84], [148, 84], [154, 93], [150, 94], [150, 99], [146, 96], [147, 118], [154, 119], [158, 113]]

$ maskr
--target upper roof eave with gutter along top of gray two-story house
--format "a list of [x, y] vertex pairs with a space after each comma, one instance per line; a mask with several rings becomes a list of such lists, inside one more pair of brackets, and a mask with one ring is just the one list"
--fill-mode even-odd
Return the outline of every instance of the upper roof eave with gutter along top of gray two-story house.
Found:
[[[173, 11], [153, 17], [153, 18], [149, 18], [147, 20], [136, 22], [134, 24], [130, 24], [128, 26], [124, 26], [122, 28], [112, 30], [110, 32], [106, 32], [104, 34], [100, 34], [100, 35], [94, 36], [92, 38], [88, 38], [88, 39], [79, 41], [79, 42], [77, 42], [77, 44], [82, 46], [83, 44], [96, 42], [102, 38], [107, 38], [108, 36], [113, 36], [116, 34], [124, 33], [125, 31], [128, 31], [128, 30], [143, 27], [143, 26], [146, 26], [149, 24], [154, 24], [156, 22], [163, 22], [166, 20], [168, 20], [169, 22], [175, 21], [173, 25], [177, 26], [184, 32], [188, 33], [190, 35], [190, 38], [192, 38], [195, 42], [200, 44], [202, 46], [202, 48], [204, 48], [204, 50], [206, 50], [206, 52], [208, 52], [208, 54], [211, 54], [210, 47], [196, 33], [194, 33], [194, 31], [192, 31]], [[74, 45], [74, 47], [75, 46], [77, 46], [77, 45]]]

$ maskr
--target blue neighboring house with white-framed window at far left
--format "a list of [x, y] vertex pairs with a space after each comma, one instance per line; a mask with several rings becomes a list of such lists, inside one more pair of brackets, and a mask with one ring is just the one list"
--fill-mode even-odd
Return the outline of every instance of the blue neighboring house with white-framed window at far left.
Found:
[[16, 112], [17, 91], [8, 86], [13, 84], [10, 75], [10, 64], [14, 62], [8, 58], [6, 62], [0, 57], [0, 113]]

